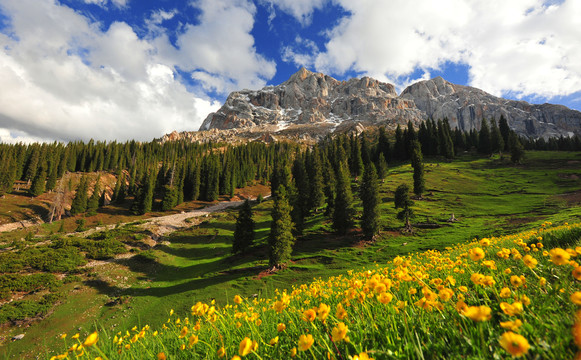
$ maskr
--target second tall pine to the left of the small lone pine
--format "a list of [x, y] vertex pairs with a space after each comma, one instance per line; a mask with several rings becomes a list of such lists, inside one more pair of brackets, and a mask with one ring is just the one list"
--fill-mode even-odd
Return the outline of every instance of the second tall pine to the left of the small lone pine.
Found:
[[335, 209], [333, 212], [333, 228], [339, 234], [346, 234], [353, 227], [355, 209], [353, 209], [353, 194], [351, 179], [345, 165], [340, 163], [336, 176]]

